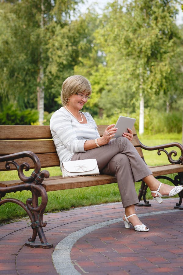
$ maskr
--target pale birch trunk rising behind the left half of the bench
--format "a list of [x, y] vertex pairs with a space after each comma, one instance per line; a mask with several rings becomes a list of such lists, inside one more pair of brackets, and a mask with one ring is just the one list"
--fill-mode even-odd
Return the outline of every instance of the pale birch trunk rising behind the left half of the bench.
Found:
[[[44, 5], [43, 0], [41, 0], [41, 32], [44, 29]], [[44, 86], [43, 86], [43, 79], [44, 79], [44, 69], [42, 66], [42, 48], [40, 48], [40, 65], [39, 65], [39, 75], [38, 75], [38, 112], [39, 112], [39, 124], [43, 125], [44, 120]]]

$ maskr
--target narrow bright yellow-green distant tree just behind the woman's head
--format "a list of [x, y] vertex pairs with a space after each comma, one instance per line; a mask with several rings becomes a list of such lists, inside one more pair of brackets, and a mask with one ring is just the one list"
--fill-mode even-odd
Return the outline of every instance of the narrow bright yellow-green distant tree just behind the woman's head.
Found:
[[[84, 106], [84, 111], [89, 111], [92, 115], [100, 115], [99, 97], [104, 87], [107, 85], [107, 71], [103, 63], [105, 57], [100, 51], [99, 45], [95, 43], [95, 31], [99, 28], [100, 18], [95, 9], [88, 9], [88, 12], [79, 17], [79, 22], [84, 28], [87, 36], [79, 44], [78, 64], [74, 66], [74, 74], [84, 75], [92, 84], [92, 97]], [[82, 23], [83, 22], [83, 23]]]

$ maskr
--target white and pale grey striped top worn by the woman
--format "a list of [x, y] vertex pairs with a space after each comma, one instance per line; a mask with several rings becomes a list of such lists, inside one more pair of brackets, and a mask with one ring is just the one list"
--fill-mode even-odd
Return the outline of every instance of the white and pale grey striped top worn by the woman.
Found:
[[50, 119], [50, 130], [62, 169], [63, 161], [70, 161], [74, 153], [86, 152], [86, 140], [100, 138], [97, 125], [88, 112], [82, 112], [87, 123], [79, 123], [65, 108], [54, 112]]

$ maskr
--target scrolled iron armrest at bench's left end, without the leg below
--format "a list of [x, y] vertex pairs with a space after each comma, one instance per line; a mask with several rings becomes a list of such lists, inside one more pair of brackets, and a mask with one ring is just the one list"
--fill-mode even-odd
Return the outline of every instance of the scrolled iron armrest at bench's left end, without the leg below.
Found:
[[[28, 163], [22, 163], [18, 165], [14, 160], [24, 158], [24, 157], [29, 157], [31, 160], [34, 162], [34, 171], [32, 172], [30, 177], [27, 177], [23, 174], [23, 169], [25, 171], [29, 171], [30, 166]], [[38, 158], [33, 152], [30, 151], [24, 151], [24, 152], [19, 152], [15, 154], [10, 154], [10, 155], [5, 155], [5, 156], [0, 156], [0, 162], [6, 161], [5, 167], [7, 170], [10, 169], [9, 164], [13, 164], [17, 171], [18, 171], [18, 176], [23, 182], [36, 182], [36, 184], [41, 184], [44, 180], [44, 178], [49, 178], [49, 172], [44, 170], [41, 171], [41, 163]]]

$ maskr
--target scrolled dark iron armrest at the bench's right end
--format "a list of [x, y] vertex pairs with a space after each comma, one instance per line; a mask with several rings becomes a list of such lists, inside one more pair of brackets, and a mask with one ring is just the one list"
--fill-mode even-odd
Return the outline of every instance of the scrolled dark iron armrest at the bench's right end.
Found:
[[[140, 141], [139, 141], [140, 142]], [[140, 146], [142, 149], [148, 150], [148, 151], [153, 151], [153, 150], [158, 150], [158, 155], [161, 155], [161, 152], [165, 152], [165, 154], [168, 157], [168, 160], [170, 163], [174, 164], [182, 164], [183, 165], [183, 145], [181, 145], [178, 142], [172, 142], [168, 144], [162, 144], [162, 145], [156, 145], [156, 146], [145, 146], [140, 142]], [[165, 148], [171, 148], [171, 147], [178, 147], [181, 150], [181, 156], [178, 158], [178, 160], [173, 160], [172, 159], [172, 154], [174, 154], [174, 157], [177, 156], [177, 152], [175, 150], [170, 151], [169, 153]]]

